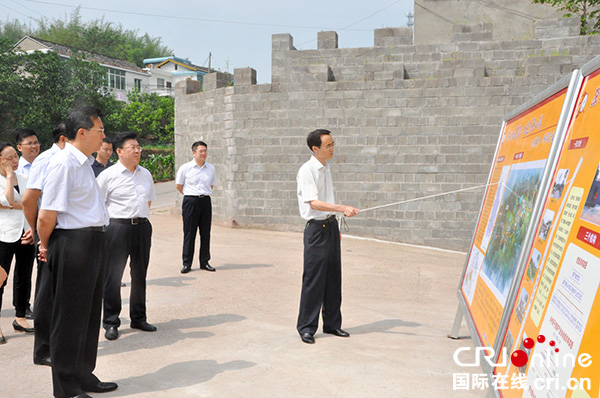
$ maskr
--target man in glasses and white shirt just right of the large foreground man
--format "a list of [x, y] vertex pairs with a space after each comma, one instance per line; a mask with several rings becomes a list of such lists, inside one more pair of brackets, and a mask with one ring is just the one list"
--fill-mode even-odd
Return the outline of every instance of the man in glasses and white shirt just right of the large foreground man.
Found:
[[98, 175], [97, 181], [106, 203], [110, 224], [106, 229], [108, 269], [104, 283], [104, 317], [107, 340], [119, 337], [121, 326], [121, 279], [130, 259], [131, 327], [155, 332], [146, 320], [146, 273], [150, 261], [152, 225], [150, 205], [156, 199], [152, 174], [139, 166], [142, 148], [135, 133], [121, 133], [113, 140], [119, 161]]

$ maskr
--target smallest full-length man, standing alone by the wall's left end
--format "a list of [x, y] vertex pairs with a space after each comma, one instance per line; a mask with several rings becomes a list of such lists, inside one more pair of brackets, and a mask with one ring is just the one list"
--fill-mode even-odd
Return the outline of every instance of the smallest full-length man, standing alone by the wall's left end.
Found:
[[192, 144], [194, 159], [177, 170], [175, 187], [183, 195], [183, 268], [182, 274], [190, 272], [194, 261], [196, 231], [200, 230], [200, 269], [214, 272], [210, 266], [210, 227], [212, 203], [210, 195], [217, 185], [215, 167], [206, 162], [207, 145], [202, 141]]

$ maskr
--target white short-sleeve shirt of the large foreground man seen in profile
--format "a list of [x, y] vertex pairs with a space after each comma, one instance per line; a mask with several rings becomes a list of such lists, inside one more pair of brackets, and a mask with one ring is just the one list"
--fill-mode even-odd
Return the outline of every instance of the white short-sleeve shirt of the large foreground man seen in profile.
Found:
[[69, 143], [48, 162], [40, 209], [57, 212], [55, 228], [108, 225], [108, 212], [92, 171], [93, 162], [92, 156], [85, 156]]

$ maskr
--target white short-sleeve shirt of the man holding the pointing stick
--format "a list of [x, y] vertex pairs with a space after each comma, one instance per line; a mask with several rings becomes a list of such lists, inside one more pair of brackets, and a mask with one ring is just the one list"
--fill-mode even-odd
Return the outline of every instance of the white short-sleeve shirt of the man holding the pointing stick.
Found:
[[323, 165], [314, 156], [304, 163], [298, 175], [298, 206], [300, 207], [300, 216], [305, 220], [324, 220], [334, 214], [332, 212], [315, 210], [310, 207], [313, 200], [334, 204], [333, 181], [331, 180], [331, 170], [329, 164]]

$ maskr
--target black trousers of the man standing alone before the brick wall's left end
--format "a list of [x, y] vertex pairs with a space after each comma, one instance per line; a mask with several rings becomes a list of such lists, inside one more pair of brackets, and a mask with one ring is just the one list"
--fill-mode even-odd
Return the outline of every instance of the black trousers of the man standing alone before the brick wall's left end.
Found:
[[184, 196], [181, 205], [183, 217], [183, 265], [192, 265], [196, 231], [200, 230], [200, 266], [210, 260], [210, 225], [212, 223], [212, 202], [210, 196]]

